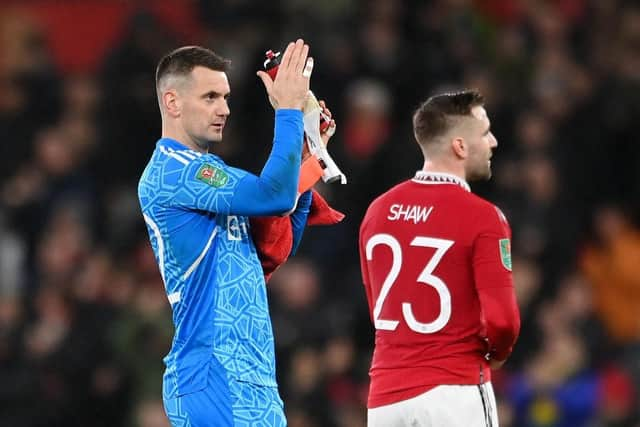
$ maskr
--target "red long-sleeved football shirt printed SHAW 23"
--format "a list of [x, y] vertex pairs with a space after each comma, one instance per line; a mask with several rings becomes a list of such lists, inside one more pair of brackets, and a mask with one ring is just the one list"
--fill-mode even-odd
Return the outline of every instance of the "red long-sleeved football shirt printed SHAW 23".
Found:
[[503, 213], [453, 175], [420, 171], [369, 207], [362, 277], [375, 326], [368, 406], [491, 379], [520, 328]]

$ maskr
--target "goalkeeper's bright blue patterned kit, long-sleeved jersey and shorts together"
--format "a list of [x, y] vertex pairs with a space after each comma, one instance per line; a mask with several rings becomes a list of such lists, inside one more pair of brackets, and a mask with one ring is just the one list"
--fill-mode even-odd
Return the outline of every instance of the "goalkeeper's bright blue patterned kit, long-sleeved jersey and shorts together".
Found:
[[[278, 110], [260, 176], [168, 138], [142, 174], [140, 205], [175, 325], [163, 380], [174, 426], [286, 425], [249, 216], [292, 208], [302, 142], [302, 113]], [[304, 196], [294, 225], [306, 223]], [[294, 240], [301, 231], [294, 226]]]

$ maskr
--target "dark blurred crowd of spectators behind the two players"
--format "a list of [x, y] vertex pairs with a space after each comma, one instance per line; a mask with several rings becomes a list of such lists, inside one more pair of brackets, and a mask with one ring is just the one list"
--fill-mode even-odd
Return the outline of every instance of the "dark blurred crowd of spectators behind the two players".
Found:
[[[109, 4], [83, 4], [91, 2]], [[473, 87], [499, 145], [494, 178], [472, 188], [511, 222], [523, 320], [494, 376], [501, 426], [640, 426], [634, 1], [172, 2], [193, 14], [184, 32], [169, 29], [158, 2], [132, 1], [118, 37], [85, 70], [61, 65], [55, 34], [29, 7], [65, 1], [8, 3], [0, 425], [168, 425], [162, 357], [173, 326], [136, 196], [160, 135], [155, 65], [186, 43], [232, 59], [232, 114], [215, 150], [259, 172], [273, 113], [255, 70], [266, 50], [302, 36], [316, 60], [312, 88], [338, 124], [330, 151], [349, 184], [319, 185], [346, 219], [307, 229], [268, 285], [289, 425], [365, 425], [373, 333], [359, 223], [376, 195], [422, 167], [412, 110], [435, 92]]]

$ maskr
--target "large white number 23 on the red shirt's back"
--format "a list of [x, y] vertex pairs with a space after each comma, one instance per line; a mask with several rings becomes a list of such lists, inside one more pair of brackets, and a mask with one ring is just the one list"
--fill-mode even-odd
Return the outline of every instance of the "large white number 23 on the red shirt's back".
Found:
[[[425, 285], [432, 286], [436, 290], [436, 292], [438, 292], [438, 296], [440, 298], [440, 314], [433, 322], [428, 323], [423, 323], [416, 320], [415, 316], [413, 315], [413, 310], [411, 309], [410, 302], [402, 303], [402, 314], [404, 316], [404, 320], [407, 322], [407, 326], [409, 326], [412, 331], [421, 334], [432, 334], [444, 328], [451, 318], [451, 294], [449, 293], [449, 289], [439, 277], [436, 277], [431, 273], [433, 273], [433, 270], [437, 267], [443, 255], [453, 245], [453, 243], [454, 242], [452, 240], [436, 239], [433, 237], [423, 236], [416, 236], [411, 241], [411, 246], [434, 248], [436, 250], [416, 281], [419, 283], [424, 283]], [[367, 241], [367, 261], [371, 261], [373, 259], [373, 248], [375, 248], [377, 245], [388, 246], [391, 249], [393, 261], [391, 264], [391, 270], [387, 274], [387, 277], [382, 284], [380, 295], [378, 295], [376, 304], [373, 308], [374, 324], [376, 329], [395, 331], [400, 321], [381, 319], [380, 312], [382, 311], [384, 300], [389, 295], [391, 287], [394, 285], [396, 279], [398, 278], [398, 275], [400, 274], [400, 269], [402, 268], [402, 247], [400, 246], [398, 240], [390, 234], [376, 234]]]

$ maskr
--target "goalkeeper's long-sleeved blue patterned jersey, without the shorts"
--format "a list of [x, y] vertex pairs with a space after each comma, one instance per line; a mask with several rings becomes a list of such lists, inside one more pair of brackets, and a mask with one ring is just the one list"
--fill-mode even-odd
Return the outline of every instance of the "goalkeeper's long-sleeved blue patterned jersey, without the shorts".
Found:
[[[277, 171], [291, 169], [279, 178], [296, 185], [299, 160], [289, 154], [300, 157], [302, 132], [301, 112], [278, 111], [275, 140], [286, 140], [280, 147], [289, 151], [274, 161], [286, 164]], [[270, 161], [278, 157], [276, 145]], [[140, 179], [140, 204], [175, 325], [165, 357], [170, 394], [203, 389], [208, 369], [276, 387], [266, 286], [248, 215], [282, 213], [282, 206], [260, 200], [259, 180], [167, 138], [157, 142]]]

